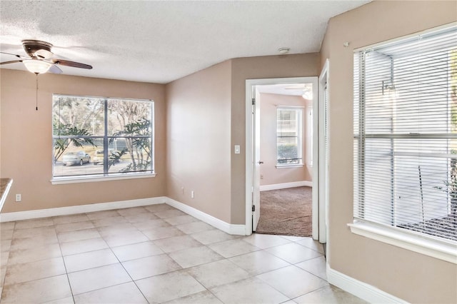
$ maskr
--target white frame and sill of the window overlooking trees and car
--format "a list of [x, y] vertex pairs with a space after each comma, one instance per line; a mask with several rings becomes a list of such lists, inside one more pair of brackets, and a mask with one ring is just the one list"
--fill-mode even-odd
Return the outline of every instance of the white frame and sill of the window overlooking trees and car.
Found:
[[[111, 98], [111, 97], [99, 97], [99, 96], [75, 96], [69, 94], [54, 94], [54, 96], [64, 96], [64, 97], [76, 97], [76, 98], [97, 98], [97, 99], [104, 99], [104, 101], [108, 100], [121, 100], [121, 101], [146, 101], [151, 103], [151, 169], [147, 171], [136, 171], [136, 172], [125, 172], [125, 173], [100, 173], [94, 175], [75, 175], [75, 176], [54, 176], [54, 146], [52, 151], [52, 178], [51, 183], [53, 185], [59, 184], [66, 184], [66, 183], [88, 183], [88, 182], [98, 182], [98, 181], [117, 181], [117, 180], [126, 180], [126, 179], [135, 179], [135, 178], [154, 178], [156, 176], [155, 171], [155, 148], [154, 148], [154, 138], [155, 138], [155, 119], [154, 119], [154, 101], [153, 100], [146, 100], [146, 99], [139, 99], [139, 98]], [[54, 96], [53, 96], [53, 103], [54, 103]], [[53, 110], [54, 111], [54, 107]], [[106, 114], [105, 114], [106, 115]], [[54, 119], [54, 118], [53, 118]], [[106, 117], [104, 118], [107, 119]], [[54, 128], [53, 128], [54, 129]], [[105, 134], [102, 137], [106, 137]], [[54, 145], [54, 135], [53, 137], [53, 145]], [[94, 136], [100, 138], [101, 136]], [[108, 136], [111, 137], [111, 136]], [[122, 137], [122, 136], [120, 136]], [[103, 147], [102, 147], [103, 148]]]

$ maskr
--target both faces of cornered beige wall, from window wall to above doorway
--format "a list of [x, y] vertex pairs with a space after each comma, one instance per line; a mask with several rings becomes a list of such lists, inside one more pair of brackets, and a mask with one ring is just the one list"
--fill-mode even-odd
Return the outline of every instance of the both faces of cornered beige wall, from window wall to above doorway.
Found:
[[[246, 79], [318, 76], [319, 58], [231, 59], [169, 83], [167, 195], [227, 223], [244, 224]], [[233, 153], [234, 145], [241, 146], [240, 154]]]

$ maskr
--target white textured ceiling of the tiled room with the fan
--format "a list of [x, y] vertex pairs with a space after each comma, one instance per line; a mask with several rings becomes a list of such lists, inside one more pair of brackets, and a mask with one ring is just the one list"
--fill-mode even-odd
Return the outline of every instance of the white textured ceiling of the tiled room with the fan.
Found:
[[43, 40], [54, 44], [56, 58], [94, 66], [62, 66], [64, 74], [169, 83], [227, 59], [275, 55], [281, 47], [289, 54], [317, 52], [328, 19], [368, 2], [2, 0], [0, 51], [26, 55], [22, 40]]

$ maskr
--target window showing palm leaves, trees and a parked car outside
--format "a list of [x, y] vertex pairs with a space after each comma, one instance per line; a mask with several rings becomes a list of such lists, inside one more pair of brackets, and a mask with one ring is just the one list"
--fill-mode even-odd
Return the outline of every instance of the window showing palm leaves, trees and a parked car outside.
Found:
[[53, 96], [53, 181], [154, 173], [154, 101]]

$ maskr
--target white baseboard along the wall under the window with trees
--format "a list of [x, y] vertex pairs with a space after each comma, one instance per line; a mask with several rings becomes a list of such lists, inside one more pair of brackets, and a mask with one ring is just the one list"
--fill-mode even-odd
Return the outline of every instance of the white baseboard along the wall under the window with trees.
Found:
[[0, 213], [0, 223], [29, 220], [31, 218], [49, 218], [50, 216], [68, 216], [76, 213], [86, 213], [94, 211], [105, 211], [111, 209], [130, 208], [138, 206], [148, 206], [158, 203], [165, 203], [166, 197], [160, 196], [157, 198], [139, 198], [130, 201], [117, 201], [111, 203], [94, 203], [81, 206], [69, 206], [49, 209], [39, 209], [31, 211], [19, 211], [11, 213]]

